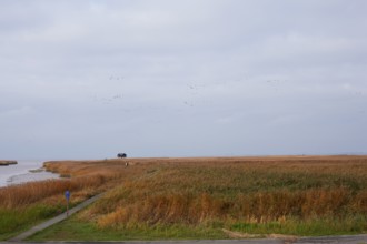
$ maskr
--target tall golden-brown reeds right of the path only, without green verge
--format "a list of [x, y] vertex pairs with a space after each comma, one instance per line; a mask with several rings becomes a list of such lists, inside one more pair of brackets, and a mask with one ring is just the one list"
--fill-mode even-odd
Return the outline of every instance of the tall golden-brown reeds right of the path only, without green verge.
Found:
[[366, 159], [161, 160], [136, 167], [142, 165], [138, 179], [89, 210], [99, 227], [356, 220], [367, 231], [366, 218], [355, 217], [367, 216]]

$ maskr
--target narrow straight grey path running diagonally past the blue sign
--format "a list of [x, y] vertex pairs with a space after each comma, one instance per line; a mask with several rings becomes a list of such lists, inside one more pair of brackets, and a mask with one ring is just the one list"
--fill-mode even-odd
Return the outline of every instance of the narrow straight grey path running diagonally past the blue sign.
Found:
[[[88, 206], [89, 204], [96, 202], [97, 200], [99, 200], [101, 196], [103, 195], [103, 193], [95, 195], [93, 197], [80, 203], [79, 205], [72, 207], [71, 210], [69, 210], [69, 216], [77, 213], [78, 211], [82, 210], [83, 207]], [[36, 234], [37, 232], [40, 232], [53, 224], [57, 224], [63, 220], [67, 218], [67, 213], [60, 214], [59, 216], [56, 216], [47, 222], [43, 222], [39, 225], [36, 225], [34, 227], [30, 228], [27, 232], [21, 233], [18, 236], [14, 236], [12, 238], [9, 240], [9, 242], [21, 242], [22, 240]]]

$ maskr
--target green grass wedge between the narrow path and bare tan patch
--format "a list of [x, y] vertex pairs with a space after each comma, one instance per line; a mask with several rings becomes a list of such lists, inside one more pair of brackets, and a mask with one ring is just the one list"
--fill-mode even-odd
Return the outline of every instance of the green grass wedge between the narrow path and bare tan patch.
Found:
[[27, 241], [152, 241], [152, 240], [221, 240], [228, 236], [221, 228], [211, 226], [173, 225], [135, 225], [118, 230], [101, 230], [92, 222], [79, 221], [73, 216]]

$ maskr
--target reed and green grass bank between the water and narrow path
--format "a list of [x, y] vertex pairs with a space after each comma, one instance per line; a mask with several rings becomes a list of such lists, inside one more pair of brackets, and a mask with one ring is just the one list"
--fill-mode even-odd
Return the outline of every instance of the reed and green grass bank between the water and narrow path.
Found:
[[[71, 176], [67, 173], [63, 176]], [[79, 173], [78, 176], [0, 187], [0, 241], [65, 212], [66, 190], [72, 192], [70, 205], [106, 191], [117, 173]]]

